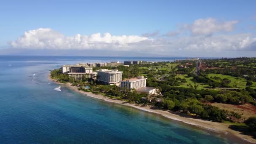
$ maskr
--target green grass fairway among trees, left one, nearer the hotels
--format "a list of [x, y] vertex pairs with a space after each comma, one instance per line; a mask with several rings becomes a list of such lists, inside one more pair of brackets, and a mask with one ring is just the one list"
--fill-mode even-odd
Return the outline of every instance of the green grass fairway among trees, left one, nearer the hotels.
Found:
[[188, 77], [187, 75], [177, 75], [176, 77], [185, 78], [187, 80], [187, 83], [180, 83], [178, 87], [190, 88], [189, 86], [187, 86], [188, 84], [191, 84], [193, 87], [195, 84], [197, 84], [197, 89], [207, 89], [209, 87], [208, 84], [195, 82], [193, 77]]

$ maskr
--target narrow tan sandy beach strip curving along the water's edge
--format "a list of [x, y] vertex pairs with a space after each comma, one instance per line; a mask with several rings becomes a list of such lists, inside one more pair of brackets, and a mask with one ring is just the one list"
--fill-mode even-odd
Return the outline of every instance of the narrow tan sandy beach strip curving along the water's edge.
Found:
[[229, 125], [225, 124], [225, 123], [217, 123], [217, 122], [211, 122], [211, 121], [207, 121], [207, 120], [195, 119], [195, 118], [190, 118], [190, 117], [182, 117], [180, 115], [176, 115], [174, 112], [171, 112], [169, 110], [161, 110], [160, 108], [156, 109], [154, 106], [132, 104], [132, 103], [127, 103], [126, 101], [123, 101], [123, 100], [116, 100], [116, 99], [109, 98], [107, 96], [102, 96], [100, 94], [79, 91], [79, 90], [77, 90], [77, 86], [72, 86], [71, 83], [59, 83], [58, 81], [52, 79], [50, 77], [50, 75], [48, 75], [48, 80], [54, 81], [55, 83], [57, 83], [59, 85], [64, 85], [67, 88], [70, 88], [71, 90], [73, 90], [75, 92], [83, 94], [84, 96], [89, 96], [89, 97], [101, 99], [101, 100], [104, 100], [107, 102], [112, 102], [115, 104], [120, 104], [120, 105], [124, 105], [124, 106], [128, 106], [128, 107], [140, 109], [140, 110], [143, 110], [146, 112], [155, 113], [157, 115], [162, 115], [163, 117], [169, 118], [171, 120], [177, 120], [177, 121], [189, 124], [189, 125], [195, 125], [199, 128], [203, 128], [203, 129], [206, 129], [209, 131], [214, 131], [214, 132], [223, 133], [223, 134], [230, 133], [230, 134], [237, 136], [238, 138], [243, 139], [247, 142], [256, 143], [256, 139], [253, 139], [252, 136], [243, 135], [239, 131], [234, 131], [234, 130], [228, 128]]

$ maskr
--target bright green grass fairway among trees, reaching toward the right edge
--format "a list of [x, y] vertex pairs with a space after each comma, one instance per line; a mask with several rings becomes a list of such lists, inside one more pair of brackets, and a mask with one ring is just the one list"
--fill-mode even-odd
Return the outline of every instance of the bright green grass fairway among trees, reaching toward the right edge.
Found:
[[[221, 75], [221, 74], [208, 74], [208, 77], [220, 77], [221, 79], [228, 78], [231, 80], [231, 83], [229, 83], [230, 86], [234, 87], [236, 84], [238, 88], [245, 88], [247, 80], [245, 78], [241, 77], [233, 77], [230, 75]], [[218, 80], [217, 80], [218, 81]], [[220, 80], [219, 80], [220, 82]], [[253, 85], [251, 85], [252, 88], [256, 88], [256, 82], [253, 82]]]

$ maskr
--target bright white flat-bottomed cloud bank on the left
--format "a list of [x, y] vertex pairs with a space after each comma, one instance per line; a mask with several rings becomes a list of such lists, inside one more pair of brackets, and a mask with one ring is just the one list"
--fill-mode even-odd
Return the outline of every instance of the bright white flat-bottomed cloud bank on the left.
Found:
[[39, 28], [24, 32], [24, 35], [9, 44], [13, 48], [48, 48], [48, 49], [123, 49], [133, 43], [151, 41], [147, 37], [137, 35], [115, 36], [110, 33], [95, 33], [93, 35], [77, 34], [73, 37], [56, 32], [49, 28]]

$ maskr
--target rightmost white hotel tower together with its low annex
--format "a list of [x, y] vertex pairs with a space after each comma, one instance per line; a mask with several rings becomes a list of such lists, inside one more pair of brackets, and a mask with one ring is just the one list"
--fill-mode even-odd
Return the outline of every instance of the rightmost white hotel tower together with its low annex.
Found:
[[131, 90], [134, 88], [139, 93], [148, 93], [148, 94], [154, 94], [156, 93], [155, 88], [146, 87], [146, 80], [147, 78], [144, 78], [144, 76], [134, 77], [126, 80], [121, 80], [120, 82], [120, 88], [127, 88]]

